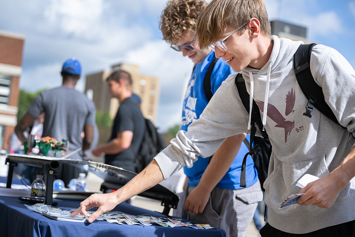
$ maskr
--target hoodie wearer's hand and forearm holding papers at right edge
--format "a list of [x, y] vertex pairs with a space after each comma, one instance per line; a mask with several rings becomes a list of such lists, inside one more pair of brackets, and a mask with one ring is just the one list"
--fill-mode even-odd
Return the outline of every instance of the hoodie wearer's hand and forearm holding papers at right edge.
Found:
[[330, 208], [337, 199], [340, 190], [345, 188], [355, 176], [355, 146], [344, 161], [326, 177], [307, 184], [299, 193], [304, 193], [297, 203]]

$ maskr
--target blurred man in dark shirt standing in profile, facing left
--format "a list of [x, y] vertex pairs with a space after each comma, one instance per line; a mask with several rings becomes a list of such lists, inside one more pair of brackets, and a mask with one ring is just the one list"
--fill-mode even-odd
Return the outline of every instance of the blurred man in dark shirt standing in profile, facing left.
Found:
[[110, 140], [92, 150], [93, 155], [105, 153], [108, 165], [135, 172], [135, 154], [143, 140], [145, 120], [137, 102], [131, 98], [132, 80], [128, 72], [114, 71], [108, 78], [108, 91], [120, 103]]

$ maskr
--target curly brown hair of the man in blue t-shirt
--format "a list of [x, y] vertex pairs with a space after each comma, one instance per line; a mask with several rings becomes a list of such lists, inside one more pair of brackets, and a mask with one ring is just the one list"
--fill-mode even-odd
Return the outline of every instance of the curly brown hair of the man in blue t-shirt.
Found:
[[159, 29], [163, 39], [176, 44], [185, 33], [196, 33], [198, 14], [206, 7], [203, 0], [170, 0], [160, 16]]

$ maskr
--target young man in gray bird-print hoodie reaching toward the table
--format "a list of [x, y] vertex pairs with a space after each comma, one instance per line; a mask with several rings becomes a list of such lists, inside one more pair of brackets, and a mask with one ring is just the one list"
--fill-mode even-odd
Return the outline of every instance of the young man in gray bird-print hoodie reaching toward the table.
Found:
[[[240, 71], [273, 147], [264, 183], [268, 223], [260, 233], [355, 236], [355, 71], [336, 50], [324, 45], [313, 47], [313, 78], [346, 129], [317, 109], [311, 118], [306, 117], [303, 113], [308, 99], [293, 70], [293, 55], [303, 42], [279, 39], [270, 32], [262, 0], [212, 0], [200, 14], [196, 32], [200, 48], [212, 44], [216, 57]], [[86, 210], [99, 206], [89, 220], [93, 221], [182, 166], [191, 167], [197, 156], [213, 154], [225, 138], [246, 133], [250, 117], [237, 92], [235, 76], [222, 83], [200, 119], [187, 132], [179, 131], [140, 175], [116, 193], [91, 196], [74, 214], [86, 214]], [[320, 179], [303, 189], [296, 187], [307, 173]], [[279, 203], [296, 193], [304, 193], [297, 200], [299, 205], [279, 209]]]

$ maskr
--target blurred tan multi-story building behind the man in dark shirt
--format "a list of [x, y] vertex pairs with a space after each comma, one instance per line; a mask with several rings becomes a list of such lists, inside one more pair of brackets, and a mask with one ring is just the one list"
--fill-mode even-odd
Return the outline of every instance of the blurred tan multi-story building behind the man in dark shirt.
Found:
[[141, 111], [143, 116], [154, 122], [159, 102], [159, 79], [158, 77], [140, 75], [138, 65], [121, 63], [113, 65], [111, 69], [86, 76], [85, 92], [89, 97], [92, 96], [96, 109], [102, 112], [108, 111], [112, 118], [115, 117], [119, 103], [118, 99], [110, 98], [110, 94], [107, 92], [106, 79], [112, 71], [119, 69], [131, 74], [132, 91], [142, 99]]

